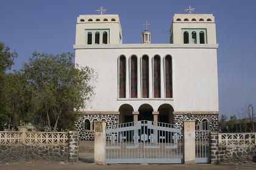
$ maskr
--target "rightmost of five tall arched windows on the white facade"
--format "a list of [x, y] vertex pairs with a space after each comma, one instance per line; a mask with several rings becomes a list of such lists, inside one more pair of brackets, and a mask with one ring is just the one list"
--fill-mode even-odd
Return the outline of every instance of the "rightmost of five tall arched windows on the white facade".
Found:
[[170, 54], [163, 57], [163, 72], [165, 98], [173, 98], [173, 60]]

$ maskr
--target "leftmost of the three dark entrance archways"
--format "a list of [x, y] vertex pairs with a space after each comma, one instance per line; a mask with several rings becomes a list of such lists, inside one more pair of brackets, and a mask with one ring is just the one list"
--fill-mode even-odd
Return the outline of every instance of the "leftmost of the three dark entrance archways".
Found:
[[122, 104], [119, 107], [119, 123], [127, 123], [133, 121], [133, 107], [130, 104]]

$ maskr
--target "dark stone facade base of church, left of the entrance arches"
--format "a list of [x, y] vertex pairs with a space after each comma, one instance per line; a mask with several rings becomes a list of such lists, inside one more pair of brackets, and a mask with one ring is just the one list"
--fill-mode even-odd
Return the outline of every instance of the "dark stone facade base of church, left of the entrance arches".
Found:
[[94, 140], [94, 131], [85, 131], [84, 130], [84, 123], [85, 120], [88, 119], [91, 123], [93, 121], [107, 121], [107, 128], [108, 127], [115, 127], [118, 124], [118, 115], [116, 114], [86, 114], [81, 115], [77, 121], [74, 123], [75, 129], [78, 132], [79, 140]]

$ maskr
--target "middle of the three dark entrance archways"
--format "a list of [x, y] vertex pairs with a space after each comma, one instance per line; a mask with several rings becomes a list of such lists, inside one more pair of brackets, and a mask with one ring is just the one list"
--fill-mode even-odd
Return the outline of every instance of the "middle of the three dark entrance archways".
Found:
[[142, 104], [138, 109], [139, 115], [138, 120], [149, 120], [154, 121], [153, 117], [153, 107], [149, 104]]

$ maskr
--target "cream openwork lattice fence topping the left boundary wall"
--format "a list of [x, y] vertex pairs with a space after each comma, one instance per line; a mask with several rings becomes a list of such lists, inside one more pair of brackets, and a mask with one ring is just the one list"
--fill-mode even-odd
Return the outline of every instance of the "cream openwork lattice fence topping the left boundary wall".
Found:
[[66, 132], [0, 132], [0, 145], [68, 145]]

